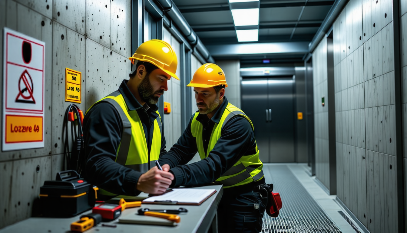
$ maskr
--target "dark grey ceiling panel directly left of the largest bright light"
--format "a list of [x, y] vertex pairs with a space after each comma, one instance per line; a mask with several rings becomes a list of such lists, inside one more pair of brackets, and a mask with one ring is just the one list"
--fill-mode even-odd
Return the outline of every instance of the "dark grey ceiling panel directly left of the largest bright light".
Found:
[[191, 26], [207, 24], [233, 24], [230, 11], [205, 11], [182, 14]]

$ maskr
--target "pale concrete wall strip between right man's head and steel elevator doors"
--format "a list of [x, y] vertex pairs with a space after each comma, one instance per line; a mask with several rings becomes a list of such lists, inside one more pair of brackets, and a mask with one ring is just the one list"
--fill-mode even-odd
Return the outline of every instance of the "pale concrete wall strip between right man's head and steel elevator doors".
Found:
[[231, 104], [240, 108], [240, 81], [242, 79], [240, 76], [240, 60], [217, 61], [216, 64], [222, 68], [228, 83], [228, 87], [225, 89], [225, 96]]

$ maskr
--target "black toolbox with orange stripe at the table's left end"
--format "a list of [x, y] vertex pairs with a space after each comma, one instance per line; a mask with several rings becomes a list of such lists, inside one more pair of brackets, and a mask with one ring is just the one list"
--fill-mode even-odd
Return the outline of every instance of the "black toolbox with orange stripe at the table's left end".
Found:
[[45, 181], [39, 192], [44, 217], [73, 217], [95, 204], [93, 185], [74, 170], [59, 172], [56, 180]]

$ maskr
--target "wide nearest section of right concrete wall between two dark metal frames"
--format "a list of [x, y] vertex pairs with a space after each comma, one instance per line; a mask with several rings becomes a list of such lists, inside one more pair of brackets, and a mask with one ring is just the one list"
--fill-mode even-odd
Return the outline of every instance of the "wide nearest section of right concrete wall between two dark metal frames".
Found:
[[392, 1], [350, 0], [333, 36], [337, 196], [370, 232], [397, 232]]

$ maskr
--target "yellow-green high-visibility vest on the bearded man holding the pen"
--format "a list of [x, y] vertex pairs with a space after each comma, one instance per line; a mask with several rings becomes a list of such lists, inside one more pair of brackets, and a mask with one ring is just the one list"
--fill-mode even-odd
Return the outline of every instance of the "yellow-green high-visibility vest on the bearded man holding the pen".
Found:
[[[128, 110], [123, 95], [119, 91], [115, 91], [98, 102], [108, 102], [112, 104], [118, 111], [123, 124], [123, 133], [120, 138], [115, 162], [142, 173], [149, 170], [149, 164], [150, 167], [155, 166], [155, 160], [158, 160], [161, 151], [162, 122], [160, 113], [156, 111], [158, 118], [154, 120], [153, 141], [151, 142], [151, 150], [149, 154], [147, 139], [144, 134], [140, 117], [136, 110]], [[92, 107], [93, 105], [88, 111]], [[103, 195], [116, 195], [103, 189], [99, 189], [99, 191]]]

